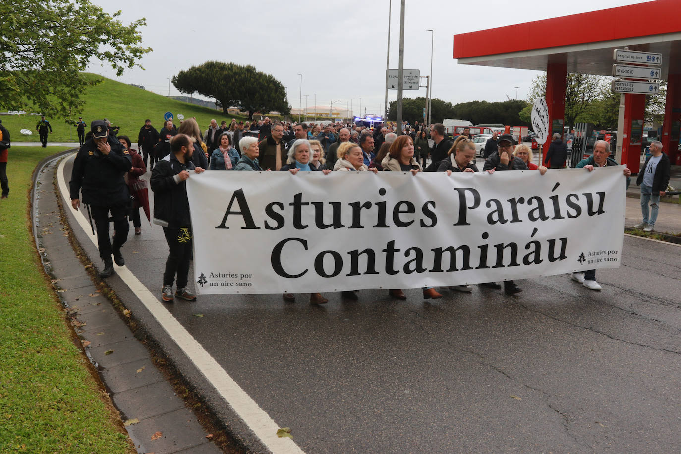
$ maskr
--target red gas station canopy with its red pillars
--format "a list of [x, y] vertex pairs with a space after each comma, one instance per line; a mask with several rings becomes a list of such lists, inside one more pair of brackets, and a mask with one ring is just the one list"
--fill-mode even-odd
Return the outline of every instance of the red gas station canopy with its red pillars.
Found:
[[[681, 0], [656, 0], [559, 18], [454, 35], [459, 64], [547, 71], [547, 103], [553, 120], [562, 122], [567, 73], [612, 76], [617, 48], [663, 55], [661, 79], [667, 80], [667, 106], [661, 142], [676, 158], [681, 116]], [[563, 79], [561, 81], [561, 79]], [[643, 118], [645, 95], [625, 95], [622, 163], [636, 162], [640, 142], [629, 143], [631, 120]], [[562, 128], [561, 128], [562, 129]], [[562, 133], [562, 131], [560, 131]], [[548, 145], [549, 142], [547, 142]], [[636, 148], [638, 145], [638, 148]], [[627, 151], [629, 150], [629, 151]]]

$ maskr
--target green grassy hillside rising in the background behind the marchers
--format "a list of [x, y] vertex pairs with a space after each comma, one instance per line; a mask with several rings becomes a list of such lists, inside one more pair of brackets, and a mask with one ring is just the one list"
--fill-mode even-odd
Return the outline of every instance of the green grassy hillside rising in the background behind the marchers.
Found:
[[[87, 74], [90, 78], [93, 74]], [[140, 128], [144, 125], [144, 120], [149, 118], [151, 124], [160, 131], [163, 127], [163, 114], [172, 112], [177, 120], [177, 114], [183, 114], [185, 118], [196, 117], [202, 131], [208, 128], [210, 120], [215, 118], [220, 124], [222, 120], [227, 124], [232, 122], [232, 118], [246, 121], [243, 116], [225, 115], [219, 110], [204, 108], [194, 104], [185, 103], [169, 99], [151, 91], [142, 90], [129, 84], [116, 82], [115, 80], [104, 78], [101, 84], [90, 87], [83, 95], [86, 101], [82, 112], [74, 112], [74, 120], [82, 116], [83, 121], [89, 126], [93, 120], [108, 118], [114, 126], [120, 126], [120, 134], [129, 135], [133, 142], [137, 142], [137, 135]], [[24, 115], [3, 115], [2, 123], [13, 141], [16, 142], [40, 142], [35, 125], [40, 120], [39, 116]], [[48, 135], [48, 142], [78, 142], [76, 127], [67, 125], [62, 118], [46, 118], [52, 126], [52, 133]], [[21, 135], [21, 129], [33, 131], [33, 135]], [[87, 130], [86, 130], [87, 131]]]

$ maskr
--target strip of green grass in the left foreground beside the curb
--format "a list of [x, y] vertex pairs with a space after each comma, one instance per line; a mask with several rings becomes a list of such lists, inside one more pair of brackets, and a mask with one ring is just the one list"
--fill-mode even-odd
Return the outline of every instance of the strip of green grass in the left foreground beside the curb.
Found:
[[118, 414], [72, 342], [29, 227], [31, 174], [56, 147], [10, 149], [0, 200], [0, 453], [131, 453]]

